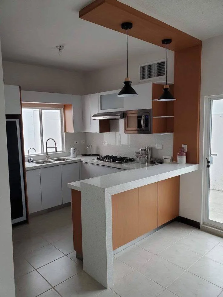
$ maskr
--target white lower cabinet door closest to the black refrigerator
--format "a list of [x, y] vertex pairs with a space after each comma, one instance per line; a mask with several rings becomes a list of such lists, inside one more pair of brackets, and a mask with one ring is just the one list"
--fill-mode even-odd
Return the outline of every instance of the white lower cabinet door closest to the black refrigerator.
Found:
[[26, 185], [27, 185], [29, 213], [35, 213], [37, 211], [42, 210], [40, 170], [39, 169], [26, 171]]

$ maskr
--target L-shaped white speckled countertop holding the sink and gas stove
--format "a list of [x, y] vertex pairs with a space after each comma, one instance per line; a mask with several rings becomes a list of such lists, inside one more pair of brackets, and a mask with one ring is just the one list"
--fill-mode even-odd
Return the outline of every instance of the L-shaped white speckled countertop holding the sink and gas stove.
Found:
[[[94, 160], [96, 157], [78, 156], [77, 158], [71, 158], [71, 157], [62, 157], [62, 158], [68, 158], [69, 160], [68, 161], [54, 161], [54, 162], [48, 163], [48, 164], [36, 164], [36, 163], [34, 163], [35, 161], [31, 162], [31, 163], [26, 162], [25, 170], [32, 170], [32, 169], [38, 169], [38, 168], [44, 168], [44, 167], [52, 167], [52, 166], [76, 163], [76, 162], [87, 162], [87, 163], [91, 163], [91, 164], [98, 164], [98, 165], [103, 165], [103, 166], [108, 166], [108, 167], [119, 168], [119, 169], [123, 169], [123, 170], [139, 169], [139, 168], [146, 167], [146, 164], [140, 164], [140, 163], [135, 163], [135, 162], [129, 162], [129, 163], [124, 163], [124, 164], [102, 162], [102, 161]], [[51, 160], [51, 159], [49, 159], [49, 160]], [[39, 161], [37, 161], [37, 162], [39, 162]], [[149, 165], [151, 166], [151, 164], [149, 164]]]

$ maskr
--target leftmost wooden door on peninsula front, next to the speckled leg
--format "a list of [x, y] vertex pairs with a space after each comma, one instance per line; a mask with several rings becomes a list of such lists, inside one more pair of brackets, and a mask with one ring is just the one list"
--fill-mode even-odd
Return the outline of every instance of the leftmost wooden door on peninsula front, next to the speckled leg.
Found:
[[113, 250], [138, 236], [138, 188], [136, 188], [112, 196]]

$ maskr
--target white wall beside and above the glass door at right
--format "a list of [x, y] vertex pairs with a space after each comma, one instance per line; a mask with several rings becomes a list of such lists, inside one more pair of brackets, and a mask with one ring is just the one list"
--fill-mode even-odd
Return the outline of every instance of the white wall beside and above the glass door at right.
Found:
[[202, 222], [206, 152], [203, 151], [206, 101], [205, 96], [223, 94], [223, 35], [202, 41], [201, 108], [200, 108], [200, 170], [181, 177], [180, 216]]

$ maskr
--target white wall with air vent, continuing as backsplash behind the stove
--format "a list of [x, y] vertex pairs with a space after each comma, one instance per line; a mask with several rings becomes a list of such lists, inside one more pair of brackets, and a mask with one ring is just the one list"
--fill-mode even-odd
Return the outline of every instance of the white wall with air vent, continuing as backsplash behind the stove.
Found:
[[[158, 48], [156, 52], [140, 55], [129, 59], [129, 77], [132, 84], [139, 84], [139, 65], [165, 58], [165, 49]], [[98, 71], [92, 71], [85, 76], [85, 94], [98, 93], [122, 88], [126, 77], [126, 63]], [[168, 81], [174, 81], [174, 52], [168, 51]], [[116, 154], [133, 157], [141, 147], [153, 147], [154, 157], [173, 155], [173, 135], [124, 134], [123, 121], [110, 121], [110, 133], [86, 133], [86, 143], [92, 144], [95, 153]], [[106, 140], [107, 144], [102, 144]], [[155, 144], [163, 144], [162, 150], [157, 150]]]

